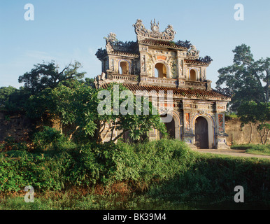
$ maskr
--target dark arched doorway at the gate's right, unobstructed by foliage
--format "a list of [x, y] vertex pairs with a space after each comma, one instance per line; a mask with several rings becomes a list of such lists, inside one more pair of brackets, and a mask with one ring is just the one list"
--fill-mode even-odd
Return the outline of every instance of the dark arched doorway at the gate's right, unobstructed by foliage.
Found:
[[195, 144], [197, 148], [209, 148], [208, 122], [204, 117], [195, 120]]

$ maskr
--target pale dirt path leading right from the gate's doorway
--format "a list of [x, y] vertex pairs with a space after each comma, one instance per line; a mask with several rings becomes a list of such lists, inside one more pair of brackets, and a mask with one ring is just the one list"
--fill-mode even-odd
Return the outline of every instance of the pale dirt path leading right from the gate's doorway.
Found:
[[245, 150], [217, 150], [217, 149], [193, 149], [199, 153], [212, 153], [212, 154], [222, 154], [222, 155], [231, 155], [231, 156], [240, 156], [240, 157], [253, 157], [253, 158], [264, 158], [270, 160], [270, 155], [255, 155], [245, 153]]

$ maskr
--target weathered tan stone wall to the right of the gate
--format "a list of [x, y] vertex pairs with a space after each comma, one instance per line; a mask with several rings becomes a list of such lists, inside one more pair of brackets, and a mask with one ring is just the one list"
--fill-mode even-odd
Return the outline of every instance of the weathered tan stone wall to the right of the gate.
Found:
[[[248, 144], [250, 141], [250, 125], [245, 125], [241, 128], [239, 118], [229, 118], [225, 123], [225, 130], [228, 134], [227, 144]], [[269, 138], [268, 138], [269, 139]], [[270, 139], [267, 141], [270, 144]], [[252, 125], [252, 135], [250, 144], [261, 144], [260, 134], [257, 132], [256, 126]]]

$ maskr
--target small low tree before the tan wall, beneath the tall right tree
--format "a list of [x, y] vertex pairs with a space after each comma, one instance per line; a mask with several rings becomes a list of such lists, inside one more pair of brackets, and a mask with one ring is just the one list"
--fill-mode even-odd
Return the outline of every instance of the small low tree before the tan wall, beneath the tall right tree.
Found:
[[243, 125], [257, 125], [261, 143], [267, 144], [270, 131], [270, 103], [244, 102], [239, 106], [237, 114]]

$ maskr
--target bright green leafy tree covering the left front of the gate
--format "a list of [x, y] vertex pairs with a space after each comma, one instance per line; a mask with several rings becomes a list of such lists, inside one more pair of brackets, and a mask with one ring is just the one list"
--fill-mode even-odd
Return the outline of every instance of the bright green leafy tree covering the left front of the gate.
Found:
[[[111, 141], [116, 141], [125, 132], [130, 132], [134, 140], [140, 139], [152, 128], [160, 130], [163, 134], [166, 132], [164, 124], [160, 123], [159, 115], [152, 114], [151, 104], [149, 115], [99, 114], [98, 106], [103, 99], [99, 99], [98, 94], [100, 91], [106, 90], [113, 98], [113, 85], [109, 85], [106, 89], [97, 90], [86, 83], [77, 84], [72, 87], [60, 84], [54, 89], [47, 88], [32, 95], [29, 104], [27, 104], [27, 114], [32, 118], [47, 115], [50, 118], [59, 119], [61, 130], [69, 125], [73, 127], [69, 133], [69, 139], [72, 139], [73, 134], [79, 132], [80, 135], [84, 135], [85, 139], [92, 138], [97, 143], [101, 143], [101, 133], [105, 130], [106, 124], [111, 124], [108, 132], [122, 130], [122, 133], [115, 139], [111, 138]], [[119, 86], [120, 92], [127, 90], [124, 86]], [[132, 99], [134, 106], [134, 96]], [[121, 105], [125, 100], [120, 99], [119, 104]], [[111, 100], [109, 106], [111, 112], [113, 103]]]

